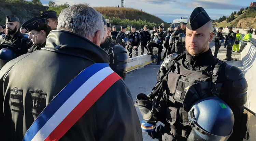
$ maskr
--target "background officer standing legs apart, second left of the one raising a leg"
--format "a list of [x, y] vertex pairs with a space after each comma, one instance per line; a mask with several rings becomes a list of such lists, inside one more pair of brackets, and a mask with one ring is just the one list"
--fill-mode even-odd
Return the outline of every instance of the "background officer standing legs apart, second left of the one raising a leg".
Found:
[[128, 33], [128, 39], [132, 39], [129, 42], [129, 45], [126, 46], [128, 53], [129, 53], [129, 58], [132, 58], [132, 51], [135, 51], [134, 56], [138, 56], [138, 47], [140, 46], [141, 43], [141, 35], [136, 32], [136, 27], [134, 25], [131, 26], [131, 31]]

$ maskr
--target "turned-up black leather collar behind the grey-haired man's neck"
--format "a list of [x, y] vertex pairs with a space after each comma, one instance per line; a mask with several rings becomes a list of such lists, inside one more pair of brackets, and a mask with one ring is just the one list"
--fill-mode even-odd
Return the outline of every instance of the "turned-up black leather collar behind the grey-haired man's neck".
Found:
[[53, 30], [47, 36], [46, 45], [40, 51], [79, 56], [93, 62], [109, 63], [109, 55], [90, 40], [69, 31]]

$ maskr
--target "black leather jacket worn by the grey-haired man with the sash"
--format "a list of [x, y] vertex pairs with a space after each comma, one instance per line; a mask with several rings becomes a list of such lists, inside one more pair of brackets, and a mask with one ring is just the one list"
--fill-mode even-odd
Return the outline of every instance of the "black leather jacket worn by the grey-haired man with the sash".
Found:
[[[108, 62], [109, 55], [99, 46], [60, 30], [50, 32], [41, 50], [8, 62], [0, 71], [1, 140], [21, 141], [37, 115], [74, 77], [94, 63]], [[142, 141], [124, 81], [114, 83], [60, 140]]]

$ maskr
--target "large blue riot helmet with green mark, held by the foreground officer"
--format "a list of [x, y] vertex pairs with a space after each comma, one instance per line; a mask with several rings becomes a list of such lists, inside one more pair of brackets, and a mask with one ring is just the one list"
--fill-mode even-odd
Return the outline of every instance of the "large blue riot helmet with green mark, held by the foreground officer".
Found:
[[188, 119], [192, 130], [187, 141], [226, 141], [233, 132], [233, 112], [219, 97], [195, 102], [188, 112]]

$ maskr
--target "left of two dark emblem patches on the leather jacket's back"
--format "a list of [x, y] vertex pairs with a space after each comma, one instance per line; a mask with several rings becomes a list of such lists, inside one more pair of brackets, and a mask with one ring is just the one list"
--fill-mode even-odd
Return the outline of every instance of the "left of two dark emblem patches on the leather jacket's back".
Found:
[[14, 87], [10, 89], [10, 103], [12, 111], [20, 112], [23, 111], [23, 90]]

